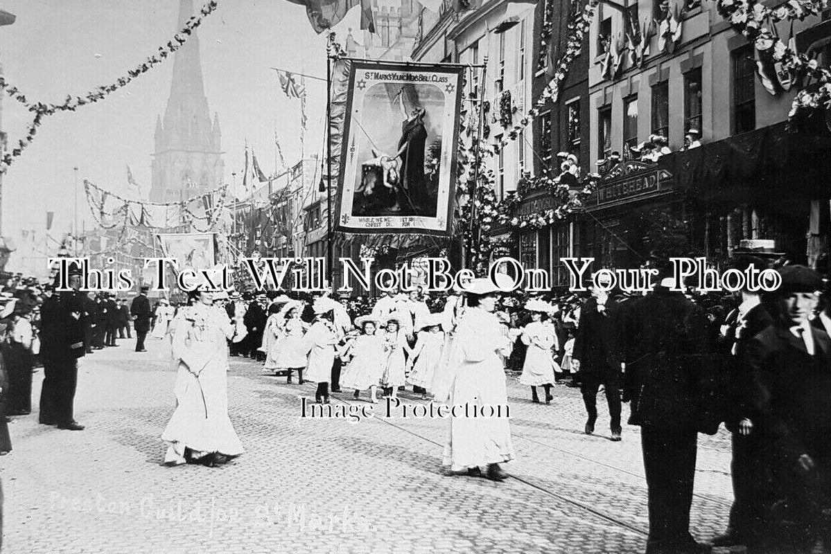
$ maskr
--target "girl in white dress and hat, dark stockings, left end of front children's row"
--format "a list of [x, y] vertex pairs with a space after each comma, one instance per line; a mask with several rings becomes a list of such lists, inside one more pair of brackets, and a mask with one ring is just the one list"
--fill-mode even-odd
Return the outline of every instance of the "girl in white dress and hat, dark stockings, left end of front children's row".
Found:
[[336, 304], [329, 297], [315, 298], [312, 304], [315, 321], [303, 337], [305, 351], [308, 353], [306, 379], [317, 383], [314, 396], [318, 404], [329, 404], [329, 381], [332, 379], [335, 345], [338, 342], [333, 323]]

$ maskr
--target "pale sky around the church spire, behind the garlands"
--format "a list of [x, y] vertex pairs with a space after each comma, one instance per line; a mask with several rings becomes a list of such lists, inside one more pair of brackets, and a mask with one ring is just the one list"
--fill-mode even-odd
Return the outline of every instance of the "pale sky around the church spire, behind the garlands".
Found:
[[[194, 0], [195, 10], [201, 5]], [[60, 103], [67, 94], [85, 96], [109, 85], [178, 30], [178, 0], [5, 0], [0, 9], [17, 16], [0, 27], [3, 72], [30, 101]], [[352, 10], [333, 28], [338, 40], [359, 21]], [[300, 104], [283, 95], [269, 68], [326, 76], [325, 34], [312, 30], [305, 9], [288, 0], [219, 0], [199, 27], [199, 42], [209, 110], [212, 118], [219, 114], [225, 180], [241, 171], [246, 140], [263, 170], [274, 171], [275, 129], [287, 164], [296, 163]], [[60, 238], [75, 218], [76, 196], [79, 227], [90, 229], [95, 223], [83, 179], [125, 194], [126, 165], [149, 191], [155, 121], [164, 115], [172, 71], [169, 57], [103, 101], [47, 117], [2, 180], [0, 233], [18, 242], [24, 229], [43, 233], [53, 211], [51, 233]], [[307, 155], [322, 145], [325, 86], [307, 80]], [[2, 96], [10, 144], [23, 137], [29, 120], [22, 105]]]

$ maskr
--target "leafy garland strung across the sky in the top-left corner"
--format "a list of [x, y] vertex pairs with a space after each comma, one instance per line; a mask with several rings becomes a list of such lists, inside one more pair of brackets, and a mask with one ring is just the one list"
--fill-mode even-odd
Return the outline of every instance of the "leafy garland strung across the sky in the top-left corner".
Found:
[[18, 140], [17, 143], [12, 146], [11, 151], [8, 151], [5, 145], [3, 145], [4, 151], [2, 152], [2, 157], [0, 157], [0, 174], [6, 173], [14, 159], [22, 154], [23, 150], [26, 150], [28, 145], [32, 144], [32, 140], [35, 139], [35, 135], [37, 134], [37, 128], [42, 125], [43, 118], [45, 116], [54, 115], [59, 111], [75, 111], [81, 106], [94, 104], [97, 101], [104, 100], [106, 96], [117, 91], [121, 87], [126, 86], [136, 77], [150, 71], [151, 68], [162, 63], [168, 56], [179, 50], [179, 48], [188, 41], [188, 38], [196, 30], [196, 28], [199, 27], [204, 17], [207, 17], [214, 12], [217, 5], [217, 0], [209, 0], [209, 2], [205, 3], [202, 9], [199, 10], [199, 14], [190, 17], [190, 19], [184, 23], [184, 27], [182, 27], [179, 32], [175, 33], [173, 38], [167, 44], [159, 47], [157, 53], [152, 56], [148, 56], [145, 61], [142, 61], [130, 71], [127, 71], [125, 76], [119, 77], [110, 85], [98, 86], [97, 88], [81, 95], [67, 95], [66, 99], [60, 104], [29, 101], [26, 95], [24, 95], [17, 86], [13, 86], [6, 80], [5, 76], [0, 75], [0, 89], [5, 91], [6, 94], [13, 100], [16, 100], [26, 106], [27, 110], [34, 113], [32, 122], [28, 125], [24, 138]]

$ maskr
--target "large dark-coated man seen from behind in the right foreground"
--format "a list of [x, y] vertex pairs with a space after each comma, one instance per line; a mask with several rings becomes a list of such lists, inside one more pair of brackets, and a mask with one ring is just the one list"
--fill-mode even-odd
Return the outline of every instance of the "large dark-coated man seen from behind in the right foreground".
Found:
[[[631, 301], [626, 333], [624, 399], [629, 424], [641, 426], [647, 474], [647, 554], [708, 552], [690, 534], [690, 507], [701, 429], [701, 385], [713, 363], [706, 313], [666, 277]], [[717, 424], [709, 430], [715, 434]]]

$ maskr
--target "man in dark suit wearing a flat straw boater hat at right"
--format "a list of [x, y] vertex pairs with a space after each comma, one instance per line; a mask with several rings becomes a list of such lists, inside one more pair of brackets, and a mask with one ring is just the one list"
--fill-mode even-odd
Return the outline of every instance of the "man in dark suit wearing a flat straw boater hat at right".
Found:
[[[736, 258], [733, 267], [744, 272], [748, 267], [762, 271], [768, 263], [759, 257]], [[733, 458], [730, 475], [733, 481], [733, 507], [727, 531], [713, 539], [714, 547], [730, 547], [753, 542], [753, 534], [762, 526], [759, 433], [751, 417], [753, 375], [747, 370], [747, 347], [750, 339], [765, 331], [774, 320], [761, 302], [759, 292], [739, 292], [740, 304], [720, 326], [718, 350], [726, 370], [727, 405], [725, 424], [732, 433]]]

